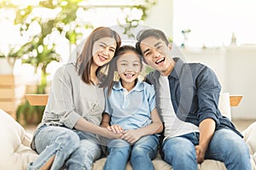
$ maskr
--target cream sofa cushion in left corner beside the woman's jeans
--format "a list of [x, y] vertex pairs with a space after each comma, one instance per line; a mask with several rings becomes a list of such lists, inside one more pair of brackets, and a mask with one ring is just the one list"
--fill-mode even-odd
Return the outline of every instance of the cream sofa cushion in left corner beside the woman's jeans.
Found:
[[26, 169], [38, 154], [30, 148], [31, 137], [13, 117], [0, 109], [0, 169]]

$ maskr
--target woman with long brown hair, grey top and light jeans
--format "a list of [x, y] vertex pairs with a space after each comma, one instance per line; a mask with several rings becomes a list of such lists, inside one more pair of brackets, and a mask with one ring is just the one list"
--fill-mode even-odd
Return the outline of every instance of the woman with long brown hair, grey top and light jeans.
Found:
[[38, 159], [27, 169], [91, 169], [102, 152], [96, 134], [118, 139], [100, 127], [104, 110], [101, 69], [113, 59], [119, 35], [108, 27], [92, 31], [76, 63], [55, 72], [44, 117], [34, 135], [32, 149]]

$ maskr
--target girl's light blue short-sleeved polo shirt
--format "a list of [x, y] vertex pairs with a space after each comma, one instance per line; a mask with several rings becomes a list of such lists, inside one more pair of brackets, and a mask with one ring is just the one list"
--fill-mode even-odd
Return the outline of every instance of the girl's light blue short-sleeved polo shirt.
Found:
[[152, 121], [151, 111], [155, 108], [153, 85], [137, 81], [130, 92], [115, 82], [111, 94], [105, 89], [105, 112], [111, 117], [110, 125], [119, 124], [124, 130], [148, 126]]

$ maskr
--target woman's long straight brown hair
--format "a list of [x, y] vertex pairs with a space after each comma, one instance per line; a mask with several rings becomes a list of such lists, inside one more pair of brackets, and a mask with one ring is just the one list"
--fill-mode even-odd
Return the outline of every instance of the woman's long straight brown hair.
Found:
[[[96, 28], [94, 31], [90, 33], [90, 36], [87, 37], [84, 43], [83, 51], [79, 55], [79, 58], [77, 59], [77, 62], [76, 62], [76, 66], [77, 68], [79, 68], [79, 76], [87, 84], [91, 83], [90, 82], [90, 65], [93, 62], [92, 48], [93, 48], [94, 42], [101, 39], [102, 37], [113, 37], [115, 39], [116, 50], [115, 50], [114, 56], [116, 55], [116, 52], [118, 51], [121, 45], [121, 38], [119, 37], [119, 34], [108, 27], [101, 26]], [[104, 75], [101, 70], [102, 68], [105, 68], [107, 65], [108, 63], [106, 65], [100, 66], [96, 71], [96, 75], [101, 80], [102, 84], [105, 84], [104, 77], [106, 75]]]

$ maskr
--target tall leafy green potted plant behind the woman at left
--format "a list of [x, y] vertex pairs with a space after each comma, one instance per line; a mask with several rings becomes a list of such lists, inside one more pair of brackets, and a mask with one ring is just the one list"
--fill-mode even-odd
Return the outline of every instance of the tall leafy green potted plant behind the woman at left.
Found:
[[[70, 8], [68, 5], [53, 5], [52, 1], [41, 2], [40, 6], [42, 8], [57, 8], [58, 5], [61, 6], [62, 10], [60, 14], [50, 19], [42, 19], [40, 16], [33, 16], [31, 6], [20, 8], [16, 13], [15, 24], [21, 25], [21, 33], [28, 31], [32, 22], [37, 22], [41, 29], [40, 33], [33, 35], [31, 40], [26, 43], [26, 57], [22, 59], [22, 63], [33, 65], [35, 71], [40, 70], [41, 72], [40, 84], [38, 84], [32, 94], [46, 93], [46, 88], [49, 85], [49, 82], [47, 82], [48, 73], [46, 72], [46, 68], [50, 62], [59, 61], [59, 54], [55, 52], [55, 43], [47, 43], [52, 32], [59, 31], [62, 35], [65, 35], [71, 43], [76, 42], [77, 37], [79, 37], [78, 33], [72, 30], [66, 31], [63, 28], [63, 25], [66, 26], [75, 20], [76, 10], [79, 8], [77, 4], [79, 1], [70, 1], [68, 3], [74, 3], [70, 5], [73, 8]], [[31, 18], [32, 16], [34, 18]], [[30, 20], [27, 20], [27, 18], [30, 18]], [[44, 106], [30, 105], [28, 101], [25, 100], [25, 102], [18, 107], [16, 117], [18, 122], [23, 120], [24, 124], [38, 124], [43, 114]]]

